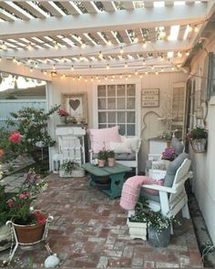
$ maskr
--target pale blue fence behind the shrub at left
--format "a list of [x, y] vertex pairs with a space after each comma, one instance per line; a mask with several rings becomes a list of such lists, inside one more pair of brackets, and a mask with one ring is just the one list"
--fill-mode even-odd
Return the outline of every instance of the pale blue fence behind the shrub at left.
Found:
[[0, 100], [0, 128], [5, 127], [5, 120], [12, 119], [10, 112], [17, 112], [22, 108], [45, 109], [46, 99], [16, 99]]

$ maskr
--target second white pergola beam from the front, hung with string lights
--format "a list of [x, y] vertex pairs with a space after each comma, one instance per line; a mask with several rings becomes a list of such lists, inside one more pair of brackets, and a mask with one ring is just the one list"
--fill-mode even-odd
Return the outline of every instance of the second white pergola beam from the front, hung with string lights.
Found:
[[118, 44], [111, 46], [87, 46], [84, 49], [81, 47], [59, 47], [58, 49], [53, 48], [40, 48], [34, 50], [17, 50], [17, 51], [0, 51], [1, 57], [15, 57], [18, 58], [43, 58], [43, 57], [79, 57], [83, 55], [95, 56], [98, 55], [99, 51], [105, 56], [110, 54], [120, 54], [120, 47], [123, 47], [124, 54], [130, 53], [144, 53], [144, 52], [168, 52], [168, 51], [183, 51], [191, 48], [191, 44], [188, 40], [176, 40], [176, 41], [162, 41], [159, 40], [155, 43], [147, 42], [147, 47], [143, 47], [141, 43], [137, 44]]

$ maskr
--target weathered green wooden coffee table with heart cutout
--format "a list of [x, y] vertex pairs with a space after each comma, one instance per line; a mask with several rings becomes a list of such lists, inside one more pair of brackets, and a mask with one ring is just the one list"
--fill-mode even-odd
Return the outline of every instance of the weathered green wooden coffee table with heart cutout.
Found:
[[91, 163], [85, 163], [82, 165], [82, 168], [84, 168], [89, 174], [90, 174], [90, 186], [96, 187], [96, 180], [109, 176], [111, 180], [110, 189], [109, 190], [102, 190], [107, 195], [109, 195], [110, 199], [117, 198], [118, 196], [121, 196], [122, 191], [122, 185], [124, 183], [124, 176], [127, 171], [131, 171], [132, 169], [128, 166], [116, 163], [115, 166], [109, 167], [97, 167], [94, 164]]

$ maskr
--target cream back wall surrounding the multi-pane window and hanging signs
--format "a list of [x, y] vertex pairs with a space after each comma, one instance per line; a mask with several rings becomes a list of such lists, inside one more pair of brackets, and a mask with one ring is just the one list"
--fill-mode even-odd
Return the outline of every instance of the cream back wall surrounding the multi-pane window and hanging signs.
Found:
[[[141, 79], [141, 88], [159, 88], [159, 107], [158, 108], [140, 108], [141, 109], [141, 126], [140, 137], [142, 146], [139, 152], [139, 171], [145, 170], [146, 158], [148, 156], [148, 138], [158, 136], [160, 130], [165, 130], [165, 126], [159, 122], [158, 116], [165, 116], [167, 110], [171, 111], [172, 88], [175, 83], [186, 82], [187, 74], [182, 72], [160, 73], [159, 75], [148, 74]], [[122, 80], [122, 83], [125, 83]], [[87, 115], [88, 127], [93, 126], [93, 82], [84, 79], [73, 80], [72, 78], [53, 78], [53, 82], [47, 87], [48, 107], [61, 103], [62, 94], [80, 94], [87, 92]], [[157, 114], [153, 113], [156, 112]], [[144, 115], [147, 114], [146, 125], [143, 123]], [[59, 116], [53, 116], [50, 122], [50, 133], [55, 137], [56, 124], [59, 123]], [[57, 152], [57, 146], [51, 149], [51, 155]], [[51, 162], [50, 162], [51, 165]], [[52, 166], [51, 166], [52, 167]]]

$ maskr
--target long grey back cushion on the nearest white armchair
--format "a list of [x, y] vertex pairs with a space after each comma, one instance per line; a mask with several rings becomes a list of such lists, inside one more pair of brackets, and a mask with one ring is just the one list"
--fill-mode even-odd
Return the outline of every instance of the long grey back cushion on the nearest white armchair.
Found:
[[175, 175], [176, 175], [176, 171], [179, 169], [180, 165], [185, 159], [189, 159], [189, 154], [183, 152], [183, 153], [180, 153], [179, 156], [175, 160], [170, 161], [167, 174], [164, 179], [164, 186], [166, 187], [172, 186]]

